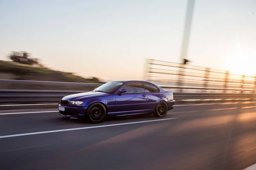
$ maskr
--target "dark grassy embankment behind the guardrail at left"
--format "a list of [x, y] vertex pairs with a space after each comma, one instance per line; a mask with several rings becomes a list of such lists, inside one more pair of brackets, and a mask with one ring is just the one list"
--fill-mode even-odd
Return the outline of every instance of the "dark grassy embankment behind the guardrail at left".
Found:
[[[0, 60], [0, 79], [35, 80], [53, 82], [85, 82], [101, 83], [97, 78], [85, 79], [72, 73], [54, 71], [49, 68], [40, 68], [15, 62]], [[91, 87], [57, 86], [57, 85], [19, 85], [0, 84], [0, 89], [33, 89], [33, 90], [92, 90]]]

